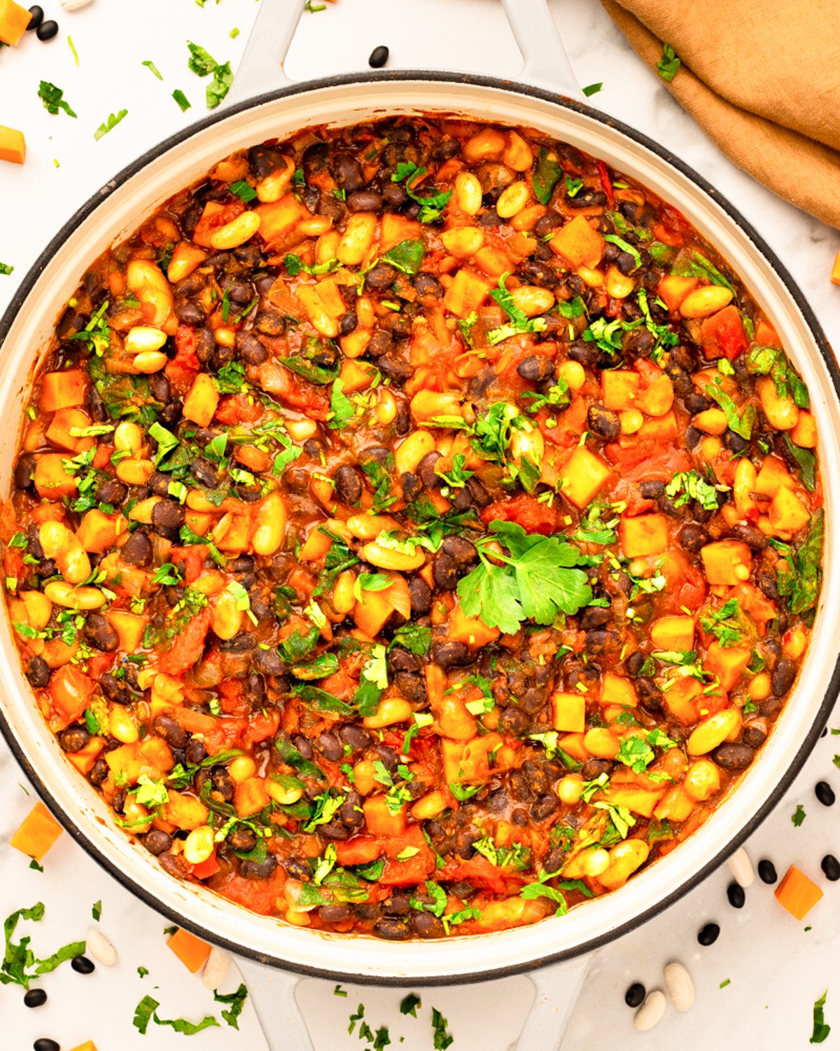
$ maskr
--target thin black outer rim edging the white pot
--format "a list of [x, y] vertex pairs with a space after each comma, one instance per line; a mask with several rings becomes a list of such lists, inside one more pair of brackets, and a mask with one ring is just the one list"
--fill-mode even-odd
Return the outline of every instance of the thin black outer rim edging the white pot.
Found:
[[[819, 353], [822, 357], [823, 365], [831, 378], [831, 384], [834, 388], [835, 393], [840, 396], [840, 370], [838, 370], [837, 364], [835, 362], [834, 355], [832, 353], [830, 344], [825, 337], [822, 330], [820, 322], [814, 314], [812, 308], [810, 307], [807, 301], [802, 294], [801, 290], [794, 282], [792, 275], [788, 272], [788, 269], [781, 262], [781, 260], [776, 255], [770, 245], [764, 241], [761, 234], [755, 229], [755, 227], [738, 211], [738, 209], [723, 195], [717, 192], [714, 186], [700, 176], [694, 168], [688, 165], [680, 158], [675, 157], [670, 150], [662, 146], [659, 143], [655, 142], [644, 132], [640, 132], [630, 125], [625, 124], [623, 121], [616, 120], [614, 118], [608, 117], [606, 114], [600, 110], [585, 105], [583, 103], [576, 102], [574, 100], [558, 96], [551, 91], [547, 91], [543, 88], [533, 87], [527, 84], [522, 84], [511, 80], [501, 80], [499, 78], [486, 77], [481, 75], [472, 74], [453, 74], [441, 70], [398, 70], [394, 73], [374, 73], [369, 74], [343, 74], [335, 77], [321, 78], [314, 81], [306, 81], [300, 84], [293, 84], [291, 86], [282, 87], [276, 90], [268, 91], [251, 99], [244, 100], [243, 102], [235, 103], [225, 108], [224, 112], [218, 115], [210, 115], [203, 118], [200, 121], [189, 125], [188, 127], [175, 132], [173, 136], [163, 140], [158, 145], [146, 150], [141, 157], [133, 161], [130, 165], [123, 168], [113, 179], [109, 180], [100, 190], [90, 197], [90, 199], [62, 226], [56, 236], [48, 243], [43, 252], [39, 255], [36, 263], [27, 272], [26, 276], [23, 279], [21, 285], [13, 295], [12, 302], [9, 303], [7, 309], [3, 313], [2, 318], [0, 318], [0, 348], [2, 348], [5, 336], [12, 327], [13, 322], [18, 313], [18, 311], [23, 306], [29, 292], [35, 286], [36, 282], [40, 277], [41, 273], [47, 266], [47, 264], [59, 253], [64, 243], [70, 238], [75, 232], [76, 228], [86, 219], [88, 219], [100, 205], [107, 202], [111, 193], [119, 189], [128, 180], [133, 178], [140, 171], [142, 171], [147, 165], [158, 160], [160, 157], [165, 154], [171, 148], [186, 142], [196, 132], [200, 132], [213, 124], [217, 123], [219, 120], [226, 120], [228, 117], [233, 117], [238, 114], [246, 112], [251, 109], [255, 109], [260, 105], [275, 102], [284, 98], [295, 98], [296, 96], [307, 95], [309, 92], [317, 91], [322, 88], [333, 88], [353, 84], [364, 84], [370, 85], [372, 82], [413, 82], [420, 81], [426, 83], [443, 83], [450, 84], [454, 88], [458, 88], [463, 85], [470, 85], [477, 87], [485, 87], [495, 90], [500, 90], [504, 92], [512, 92], [521, 96], [531, 97], [538, 99], [542, 102], [548, 102], [561, 108], [571, 110], [573, 112], [580, 114], [590, 120], [594, 120], [606, 127], [614, 131], [618, 131], [627, 139], [632, 142], [645, 147], [652, 153], [656, 154], [662, 161], [664, 161], [668, 166], [676, 169], [682, 177], [688, 179], [696, 187], [698, 187], [706, 195], [711, 198], [720, 209], [726, 212], [729, 220], [737, 227], [741, 234], [747, 239], [750, 244], [758, 250], [763, 260], [769, 264], [771, 269], [774, 271], [776, 277], [781, 282], [781, 284], [786, 289], [791, 298], [796, 305], [796, 308], [800, 312], [806, 328], [810, 330], [811, 336], [817, 346]], [[454, 110], [457, 110], [457, 104], [453, 106]], [[384, 114], [383, 114], [384, 116]], [[427, 976], [420, 976], [413, 974], [411, 977], [411, 983], [413, 985], [421, 986], [439, 986], [439, 985], [450, 985], [450, 984], [467, 984], [474, 982], [485, 982], [494, 978], [499, 978], [500, 976], [507, 974], [518, 974], [526, 973], [529, 970], [533, 970], [539, 967], [545, 967], [552, 963], [560, 963], [564, 960], [569, 960], [574, 956], [583, 955], [586, 952], [598, 949], [602, 946], [614, 941], [615, 939], [627, 933], [631, 929], [646, 923], [649, 919], [656, 915], [657, 913], [664, 911], [678, 901], [681, 897], [688, 893], [691, 889], [701, 883], [715, 868], [717, 868], [724, 860], [728, 858], [737, 847], [739, 847], [746, 839], [754, 831], [754, 829], [764, 820], [764, 818], [771, 812], [771, 810], [777, 805], [781, 800], [783, 795], [786, 792], [788, 788], [794, 781], [795, 777], [802, 768], [805, 760], [811, 754], [814, 745], [819, 740], [822, 729], [827, 721], [831, 710], [834, 706], [835, 700], [838, 693], [840, 693], [840, 654], [836, 657], [834, 668], [832, 671], [831, 678], [827, 681], [825, 693], [820, 706], [816, 713], [814, 721], [807, 734], [804, 736], [799, 748], [797, 749], [794, 758], [791, 760], [786, 769], [778, 778], [774, 788], [769, 792], [763, 802], [757, 807], [756, 811], [743, 824], [738, 831], [731, 836], [726, 846], [723, 846], [716, 854], [710, 858], [705, 864], [702, 864], [692, 875], [686, 879], [682, 883], [676, 886], [665, 897], [660, 897], [656, 900], [655, 904], [644, 909], [640, 912], [636, 912], [631, 919], [617, 924], [616, 926], [609, 927], [607, 930], [590, 937], [580, 944], [571, 947], [558, 949], [555, 952], [544, 953], [537, 959], [528, 956], [527, 959], [517, 960], [516, 963], [505, 963], [503, 965], [497, 965], [490, 969], [475, 970], [468, 972], [459, 972], [455, 975], [448, 974], [430, 974]], [[56, 815], [60, 820], [61, 824], [67, 831], [72, 836], [72, 838], [79, 842], [86, 852], [93, 858], [110, 875], [116, 878], [126, 889], [128, 889], [132, 894], [140, 898], [145, 904], [149, 905], [155, 911], [163, 913], [167, 918], [174, 920], [180, 926], [191, 930], [196, 935], [210, 941], [213, 944], [222, 945], [225, 948], [239, 953], [242, 955], [248, 956], [259, 963], [269, 964], [271, 966], [278, 967], [286, 971], [293, 971], [295, 973], [311, 976], [326, 978], [329, 981], [350, 981], [355, 984], [369, 984], [369, 985], [382, 985], [382, 986], [403, 986], [405, 985], [405, 975], [401, 974], [369, 974], [364, 972], [351, 972], [331, 969], [328, 967], [316, 967], [308, 964], [301, 964], [297, 962], [286, 961], [277, 956], [269, 955], [268, 953], [260, 952], [256, 949], [250, 948], [249, 946], [233, 942], [225, 936], [219, 935], [215, 930], [212, 930], [202, 923], [193, 921], [185, 916], [176, 908], [166, 904], [161, 899], [159, 899], [151, 891], [147, 890], [142, 884], [139, 884], [134, 879], [126, 874], [116, 861], [111, 860], [105, 850], [102, 850], [88, 838], [86, 832], [77, 824], [75, 816], [70, 816], [65, 812], [62, 806], [54, 799], [51, 792], [44, 784], [41, 777], [36, 772], [34, 766], [27, 759], [21, 744], [15, 737], [12, 726], [2, 708], [0, 708], [0, 731], [2, 731], [6, 743], [8, 744], [10, 750], [15, 755], [15, 758], [20, 763], [21, 767], [26, 772], [27, 777], [32, 781], [36, 790], [38, 791], [41, 799], [47, 805], [47, 807]], [[737, 788], [736, 788], [737, 790]], [[726, 800], [724, 803], [728, 803]], [[482, 937], [487, 937], [489, 935], [482, 935]], [[360, 942], [360, 948], [363, 949], [363, 942]], [[480, 944], [476, 942], [476, 944]], [[329, 942], [324, 942], [326, 946], [329, 946]]]

